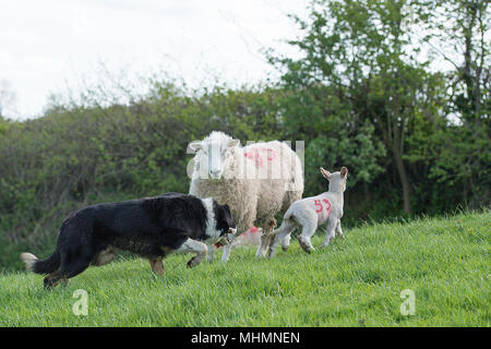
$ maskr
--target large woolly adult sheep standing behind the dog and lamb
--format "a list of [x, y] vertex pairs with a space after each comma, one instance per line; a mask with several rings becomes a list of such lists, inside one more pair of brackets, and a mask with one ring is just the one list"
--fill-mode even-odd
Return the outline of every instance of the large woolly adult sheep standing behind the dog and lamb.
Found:
[[[302, 197], [303, 171], [298, 155], [278, 141], [241, 147], [239, 140], [217, 131], [189, 147], [197, 152], [189, 193], [227, 204], [239, 233], [253, 226], [262, 227], [255, 255], [263, 256], [272, 243], [275, 215]], [[209, 251], [213, 258], [214, 246]], [[227, 262], [229, 254], [227, 245], [221, 261]]]

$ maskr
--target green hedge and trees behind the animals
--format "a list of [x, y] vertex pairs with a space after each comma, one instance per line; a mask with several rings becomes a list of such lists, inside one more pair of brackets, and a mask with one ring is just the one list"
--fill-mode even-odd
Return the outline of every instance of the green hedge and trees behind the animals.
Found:
[[306, 196], [327, 188], [320, 166], [348, 167], [347, 226], [489, 206], [488, 2], [313, 0], [308, 13], [292, 16], [299, 57], [267, 51], [278, 83], [190, 91], [157, 75], [132, 95], [105, 73], [41, 118], [0, 116], [0, 268], [45, 252], [73, 209], [188, 192], [187, 145], [213, 130], [304, 141]]

